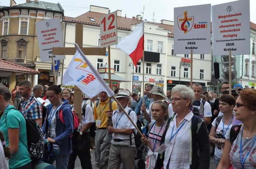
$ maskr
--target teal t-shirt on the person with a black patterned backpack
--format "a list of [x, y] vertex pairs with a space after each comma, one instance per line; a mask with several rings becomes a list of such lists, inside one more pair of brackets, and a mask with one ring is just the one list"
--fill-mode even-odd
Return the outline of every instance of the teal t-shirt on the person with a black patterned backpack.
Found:
[[9, 168], [18, 168], [31, 162], [31, 159], [27, 150], [27, 129], [25, 118], [18, 110], [10, 110], [11, 108], [14, 107], [9, 106], [5, 109], [0, 121], [0, 130], [4, 135], [6, 146], [9, 146], [8, 129], [19, 129], [18, 152], [12, 154], [12, 157], [9, 159]]

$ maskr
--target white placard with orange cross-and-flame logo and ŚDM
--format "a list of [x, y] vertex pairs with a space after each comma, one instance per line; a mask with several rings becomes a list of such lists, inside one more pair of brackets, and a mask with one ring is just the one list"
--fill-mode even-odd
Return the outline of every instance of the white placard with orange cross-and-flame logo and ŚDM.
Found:
[[210, 54], [211, 4], [174, 8], [174, 54]]

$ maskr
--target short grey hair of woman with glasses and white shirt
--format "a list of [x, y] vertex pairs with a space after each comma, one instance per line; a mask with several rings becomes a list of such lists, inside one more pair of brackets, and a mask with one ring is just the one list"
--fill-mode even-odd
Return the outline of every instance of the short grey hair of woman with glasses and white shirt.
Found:
[[180, 93], [182, 98], [187, 98], [191, 100], [189, 105], [190, 108], [190, 106], [193, 104], [193, 101], [195, 100], [194, 90], [185, 85], [177, 84], [175, 87], [172, 88], [172, 94], [175, 92]]

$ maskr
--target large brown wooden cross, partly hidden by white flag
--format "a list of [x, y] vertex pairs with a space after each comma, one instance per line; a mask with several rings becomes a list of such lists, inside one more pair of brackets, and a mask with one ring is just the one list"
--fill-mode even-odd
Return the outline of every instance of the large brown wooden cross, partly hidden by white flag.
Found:
[[[75, 24], [75, 43], [78, 44], [79, 48], [85, 55], [106, 55], [106, 48], [83, 48], [83, 24]], [[53, 55], [74, 55], [76, 48], [53, 48]], [[63, 66], [63, 65], [62, 65]], [[81, 123], [82, 119], [82, 91], [75, 86], [74, 87], [74, 110], [76, 110], [79, 115], [79, 121]]]

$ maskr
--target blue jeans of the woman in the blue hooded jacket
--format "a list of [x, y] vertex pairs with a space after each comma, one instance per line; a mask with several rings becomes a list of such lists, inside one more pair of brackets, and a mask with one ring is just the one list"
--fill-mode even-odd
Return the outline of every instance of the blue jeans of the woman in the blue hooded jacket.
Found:
[[59, 150], [53, 150], [53, 156], [51, 160], [49, 161], [49, 164], [53, 165], [54, 161], [56, 160], [56, 168], [57, 169], [65, 169], [68, 168], [68, 162], [69, 162], [69, 155], [66, 155], [65, 157], [62, 157], [61, 159], [61, 153]]

